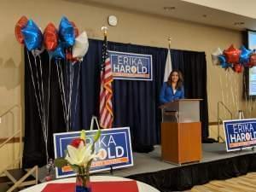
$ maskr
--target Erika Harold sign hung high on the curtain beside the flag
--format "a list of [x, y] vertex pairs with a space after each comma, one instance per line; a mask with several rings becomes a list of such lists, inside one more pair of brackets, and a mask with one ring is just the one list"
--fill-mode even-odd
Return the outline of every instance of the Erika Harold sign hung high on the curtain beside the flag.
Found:
[[113, 79], [152, 80], [152, 55], [108, 51]]

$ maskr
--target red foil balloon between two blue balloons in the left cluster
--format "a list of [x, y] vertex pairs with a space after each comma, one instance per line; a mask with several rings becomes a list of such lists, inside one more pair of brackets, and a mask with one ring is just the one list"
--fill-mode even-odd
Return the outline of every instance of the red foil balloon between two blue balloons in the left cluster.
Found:
[[49, 23], [44, 29], [44, 46], [47, 50], [54, 50], [58, 45], [58, 32], [55, 25]]

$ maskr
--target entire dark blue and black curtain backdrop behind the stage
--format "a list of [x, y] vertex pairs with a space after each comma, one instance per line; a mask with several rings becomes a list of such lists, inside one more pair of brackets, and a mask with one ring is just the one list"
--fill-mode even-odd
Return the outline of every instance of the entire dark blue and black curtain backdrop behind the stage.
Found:
[[[73, 131], [89, 129], [92, 115], [98, 115], [100, 90], [100, 64], [102, 62], [102, 41], [90, 40], [88, 53], [81, 63], [78, 87], [77, 108], [72, 106]], [[153, 81], [114, 80], [113, 82], [113, 113], [114, 127], [130, 126], [133, 148], [140, 150], [143, 146], [160, 143], [160, 102], [159, 93], [166, 65], [167, 49], [134, 44], [108, 42], [108, 49], [152, 55]], [[207, 112], [207, 63], [204, 52], [172, 50], [172, 66], [182, 71], [184, 76], [185, 96], [202, 98], [201, 121], [202, 136], [208, 136]], [[48, 61], [44, 53], [42, 59]], [[47, 67], [47, 65], [44, 65]], [[49, 156], [54, 157], [54, 132], [66, 131], [61, 111], [60, 89], [56, 78], [54, 61], [52, 67], [51, 95], [49, 110]], [[47, 70], [45, 70], [47, 73]], [[78, 66], [75, 69], [73, 92], [77, 91]], [[44, 165], [44, 140], [38, 122], [38, 111], [32, 89], [32, 79], [25, 58], [25, 104], [26, 131], [24, 166]], [[76, 94], [73, 94], [73, 101]], [[73, 102], [75, 103], [75, 102]]]

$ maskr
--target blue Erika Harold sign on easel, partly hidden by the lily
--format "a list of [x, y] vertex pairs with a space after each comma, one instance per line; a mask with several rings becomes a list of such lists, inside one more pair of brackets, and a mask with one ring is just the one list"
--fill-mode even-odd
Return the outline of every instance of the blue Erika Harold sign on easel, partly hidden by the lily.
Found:
[[[92, 143], [97, 130], [86, 131], [85, 143]], [[54, 134], [55, 158], [65, 157], [67, 145], [74, 138], [80, 137], [81, 131]], [[131, 136], [129, 127], [102, 130], [102, 135], [96, 142], [97, 157], [92, 161], [90, 172], [102, 172], [133, 166], [131, 151]], [[56, 168], [56, 177], [70, 177], [75, 173], [70, 166]]]

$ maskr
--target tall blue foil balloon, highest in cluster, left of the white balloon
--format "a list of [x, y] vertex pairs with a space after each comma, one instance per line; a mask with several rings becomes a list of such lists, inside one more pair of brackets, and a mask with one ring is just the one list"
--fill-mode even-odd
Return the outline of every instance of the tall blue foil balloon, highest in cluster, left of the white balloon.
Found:
[[71, 47], [75, 43], [75, 33], [73, 30], [73, 25], [66, 17], [61, 18], [61, 23], [59, 26], [59, 36], [61, 41], [64, 43], [65, 47]]

